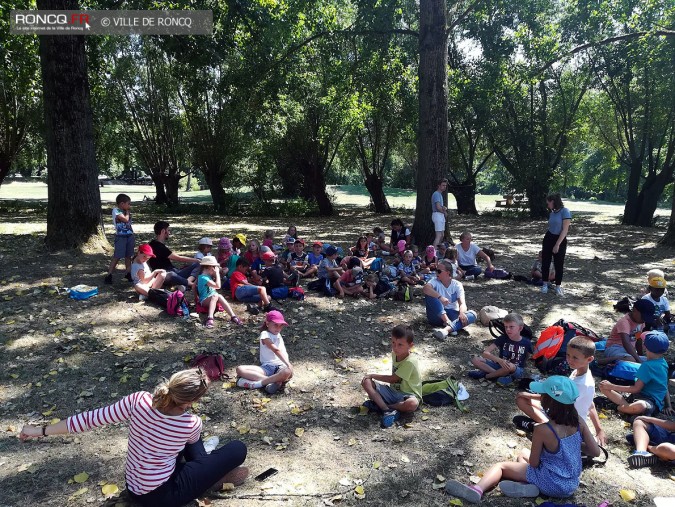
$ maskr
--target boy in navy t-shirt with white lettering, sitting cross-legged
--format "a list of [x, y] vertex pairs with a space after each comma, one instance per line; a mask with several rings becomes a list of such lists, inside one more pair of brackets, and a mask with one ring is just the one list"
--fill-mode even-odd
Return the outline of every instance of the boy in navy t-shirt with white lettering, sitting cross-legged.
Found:
[[[506, 334], [496, 338], [482, 356], [471, 359], [471, 364], [478, 369], [470, 371], [469, 377], [496, 380], [502, 385], [521, 378], [527, 358], [532, 354], [532, 342], [520, 334], [523, 325], [523, 318], [517, 313], [509, 313], [504, 317]], [[494, 355], [497, 351], [499, 356]]]

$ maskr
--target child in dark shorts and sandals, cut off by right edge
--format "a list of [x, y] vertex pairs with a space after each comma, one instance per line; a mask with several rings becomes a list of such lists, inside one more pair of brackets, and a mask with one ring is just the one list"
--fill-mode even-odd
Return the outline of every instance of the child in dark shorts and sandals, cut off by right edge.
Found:
[[659, 460], [675, 465], [675, 421], [638, 416], [626, 439], [635, 443], [635, 452], [628, 456], [631, 468], [656, 465]]

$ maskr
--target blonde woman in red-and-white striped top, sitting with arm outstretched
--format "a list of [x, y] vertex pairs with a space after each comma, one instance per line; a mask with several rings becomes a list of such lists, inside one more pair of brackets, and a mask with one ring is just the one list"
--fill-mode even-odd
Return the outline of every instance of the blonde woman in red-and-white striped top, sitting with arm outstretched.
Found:
[[242, 483], [248, 475], [240, 467], [246, 446], [236, 440], [207, 454], [200, 437], [202, 420], [187, 413], [208, 385], [201, 369], [183, 370], [161, 382], [154, 394], [139, 391], [56, 424], [26, 425], [20, 438], [81, 433], [129, 421], [125, 475], [132, 498], [144, 506], [178, 507], [225, 482]]

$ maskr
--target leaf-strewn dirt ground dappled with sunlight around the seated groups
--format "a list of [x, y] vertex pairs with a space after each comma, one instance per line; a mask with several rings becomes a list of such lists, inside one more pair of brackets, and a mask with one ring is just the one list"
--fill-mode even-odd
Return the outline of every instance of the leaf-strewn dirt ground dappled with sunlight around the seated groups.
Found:
[[[151, 239], [151, 225], [160, 217], [144, 213], [142, 205], [134, 211], [138, 244]], [[274, 228], [280, 237], [288, 225], [275, 219], [162, 218], [172, 223], [170, 247], [185, 254], [194, 252], [204, 235], [243, 232], [260, 237], [264, 229]], [[298, 220], [297, 226], [302, 237], [346, 247], [359, 233], [385, 227], [391, 218], [349, 209], [328, 220]], [[543, 222], [529, 220], [452, 220], [457, 236], [462, 229], [471, 230], [479, 245], [497, 252], [498, 267], [522, 274], [529, 271], [545, 230]], [[234, 304], [245, 326], [219, 318], [212, 330], [196, 318], [183, 322], [169, 317], [138, 301], [122, 279], [121, 265], [115, 284], [103, 285], [106, 255], [46, 253], [44, 224], [41, 212], [4, 213], [0, 220], [0, 347], [5, 364], [0, 372], [0, 505], [125, 505], [119, 499], [106, 502], [102, 486], [124, 488], [126, 425], [27, 443], [16, 438], [21, 426], [64, 419], [137, 390], [152, 390], [158, 379], [202, 351], [223, 353], [233, 379], [237, 364], [257, 361], [263, 316], [250, 316], [243, 305]], [[565, 318], [607, 335], [620, 316], [612, 303], [637, 293], [648, 269], [662, 268], [673, 279], [675, 253], [656, 246], [662, 232], [598, 223], [592, 210], [577, 213], [568, 248], [566, 297], [542, 295], [514, 281], [481, 279], [465, 283], [469, 308], [493, 304], [518, 311], [536, 331]], [[98, 285], [100, 294], [73, 301], [55, 291], [79, 283]], [[283, 335], [295, 367], [286, 392], [267, 397], [217, 382], [194, 407], [204, 418], [207, 436], [218, 435], [221, 443], [246, 443], [246, 464], [253, 475], [271, 466], [279, 474], [264, 483], [249, 479], [229, 499], [212, 499], [212, 505], [448, 505], [450, 497], [436, 489], [440, 479], [469, 481], [528, 446], [511, 424], [517, 413], [515, 389], [466, 376], [469, 358], [488, 343], [487, 328], [473, 325], [467, 333], [437, 341], [419, 296], [401, 303], [309, 294], [303, 302], [285, 302], [282, 311], [291, 324]], [[465, 384], [471, 395], [469, 413], [425, 407], [387, 430], [374, 416], [359, 413], [361, 378], [390, 371], [389, 331], [398, 323], [410, 324], [416, 333], [425, 378], [454, 375]], [[621, 489], [636, 493], [633, 505], [675, 497], [675, 477], [667, 466], [626, 467], [630, 449], [621, 419], [607, 415], [603, 426], [610, 459], [603, 468], [584, 471], [581, 487], [568, 501], [622, 505]], [[73, 481], [81, 472], [88, 478]], [[359, 486], [364, 498], [355, 493]], [[485, 504], [534, 502], [493, 491]]]

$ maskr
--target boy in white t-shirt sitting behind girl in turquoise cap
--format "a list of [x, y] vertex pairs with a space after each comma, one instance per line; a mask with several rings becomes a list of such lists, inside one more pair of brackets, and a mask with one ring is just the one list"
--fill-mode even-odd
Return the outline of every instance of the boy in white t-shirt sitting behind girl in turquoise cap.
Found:
[[[605, 445], [607, 438], [600, 426], [600, 418], [593, 404], [595, 397], [595, 380], [588, 365], [593, 361], [595, 343], [585, 336], [575, 336], [567, 344], [567, 364], [572, 368], [570, 380], [577, 386], [579, 397], [574, 402], [574, 408], [582, 420], [590, 416], [595, 427], [595, 436], [598, 444]], [[527, 432], [534, 431], [535, 424], [548, 422], [543, 408], [541, 407], [541, 395], [526, 391], [516, 395], [516, 405], [525, 413], [525, 416], [517, 415], [513, 418], [516, 428]]]

